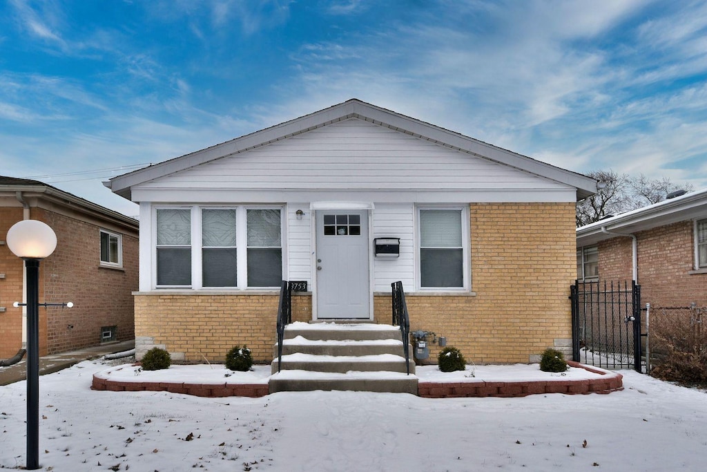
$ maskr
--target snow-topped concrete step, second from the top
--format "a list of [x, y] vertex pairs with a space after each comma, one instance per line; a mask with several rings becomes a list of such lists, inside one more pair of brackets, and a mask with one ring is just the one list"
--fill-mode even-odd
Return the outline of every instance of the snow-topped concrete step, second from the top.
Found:
[[[277, 357], [277, 345], [274, 346]], [[366, 355], [403, 355], [402, 341], [392, 339], [346, 341], [346, 340], [308, 340], [301, 336], [286, 339], [282, 343], [282, 354], [303, 354], [327, 356], [366, 356]]]

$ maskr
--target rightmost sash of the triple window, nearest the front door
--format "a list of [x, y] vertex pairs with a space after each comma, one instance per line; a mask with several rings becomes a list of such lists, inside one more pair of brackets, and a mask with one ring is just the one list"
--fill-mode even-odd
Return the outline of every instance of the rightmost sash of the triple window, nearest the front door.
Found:
[[282, 247], [279, 209], [247, 210], [248, 287], [279, 287]]

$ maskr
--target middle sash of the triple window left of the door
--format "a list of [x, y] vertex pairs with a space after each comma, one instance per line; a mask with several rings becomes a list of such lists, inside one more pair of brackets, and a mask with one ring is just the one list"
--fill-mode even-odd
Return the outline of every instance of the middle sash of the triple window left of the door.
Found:
[[204, 287], [237, 287], [235, 209], [201, 211], [201, 277]]

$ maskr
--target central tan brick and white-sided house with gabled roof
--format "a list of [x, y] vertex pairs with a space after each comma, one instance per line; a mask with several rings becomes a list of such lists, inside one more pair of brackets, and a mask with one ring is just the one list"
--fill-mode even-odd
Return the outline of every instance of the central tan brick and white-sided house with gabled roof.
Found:
[[571, 346], [584, 175], [352, 99], [105, 185], [140, 207], [138, 357], [271, 361], [281, 280], [293, 321], [389, 324], [401, 281], [421, 362]]

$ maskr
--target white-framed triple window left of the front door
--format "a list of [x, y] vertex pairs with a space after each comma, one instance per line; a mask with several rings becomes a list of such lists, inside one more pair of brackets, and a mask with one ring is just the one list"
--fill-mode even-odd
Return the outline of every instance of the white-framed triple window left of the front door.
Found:
[[281, 215], [243, 206], [156, 209], [157, 287], [279, 287]]

